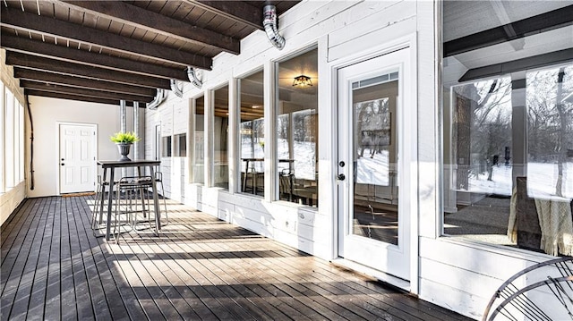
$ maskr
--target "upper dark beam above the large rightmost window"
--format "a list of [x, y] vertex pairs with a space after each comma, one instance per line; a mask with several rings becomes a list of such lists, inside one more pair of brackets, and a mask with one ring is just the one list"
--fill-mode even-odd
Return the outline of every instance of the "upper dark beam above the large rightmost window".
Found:
[[[571, 24], [573, 24], [573, 5], [445, 42], [443, 45], [444, 57], [524, 38]], [[512, 35], [509, 35], [506, 31], [509, 28], [514, 30], [515, 34], [512, 32]]]

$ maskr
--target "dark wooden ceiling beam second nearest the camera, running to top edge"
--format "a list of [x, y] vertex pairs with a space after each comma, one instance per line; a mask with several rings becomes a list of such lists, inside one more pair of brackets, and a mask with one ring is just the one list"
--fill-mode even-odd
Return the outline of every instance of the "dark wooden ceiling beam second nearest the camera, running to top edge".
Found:
[[241, 52], [241, 43], [238, 39], [199, 28], [121, 1], [61, 1], [58, 4], [87, 11], [98, 17], [121, 21], [145, 30], [151, 30], [167, 38], [177, 38], [235, 55]]

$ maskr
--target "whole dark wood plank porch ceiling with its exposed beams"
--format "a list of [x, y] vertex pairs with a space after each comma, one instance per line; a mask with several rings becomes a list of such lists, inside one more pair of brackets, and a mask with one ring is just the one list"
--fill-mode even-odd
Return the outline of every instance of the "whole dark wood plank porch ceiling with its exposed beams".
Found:
[[188, 66], [240, 54], [242, 38], [264, 32], [266, 4], [279, 15], [298, 2], [3, 0], [0, 46], [26, 95], [149, 103], [189, 82]]

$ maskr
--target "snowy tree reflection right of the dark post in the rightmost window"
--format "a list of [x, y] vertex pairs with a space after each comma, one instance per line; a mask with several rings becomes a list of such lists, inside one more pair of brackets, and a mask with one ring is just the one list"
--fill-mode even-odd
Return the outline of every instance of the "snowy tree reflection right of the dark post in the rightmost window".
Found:
[[526, 84], [527, 195], [572, 199], [573, 66], [527, 72]]

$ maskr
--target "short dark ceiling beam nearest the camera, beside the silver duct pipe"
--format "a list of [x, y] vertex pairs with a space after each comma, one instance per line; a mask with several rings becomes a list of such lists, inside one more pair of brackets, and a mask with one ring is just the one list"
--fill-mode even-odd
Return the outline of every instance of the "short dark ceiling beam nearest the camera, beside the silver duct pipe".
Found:
[[264, 30], [262, 27], [262, 8], [253, 6], [243, 1], [208, 1], [208, 0], [185, 0], [201, 9], [217, 13], [234, 21]]

